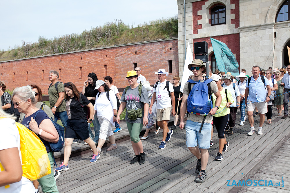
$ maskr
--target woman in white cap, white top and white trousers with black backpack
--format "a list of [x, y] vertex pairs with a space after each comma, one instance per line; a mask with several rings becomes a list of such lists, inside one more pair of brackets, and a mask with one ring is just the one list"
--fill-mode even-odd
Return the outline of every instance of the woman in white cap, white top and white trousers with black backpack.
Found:
[[98, 153], [101, 153], [101, 149], [106, 142], [107, 136], [111, 142], [111, 146], [107, 151], [117, 148], [115, 135], [112, 130], [112, 125], [115, 126], [117, 117], [117, 98], [115, 93], [109, 89], [108, 85], [105, 84], [103, 80], [97, 80], [95, 90], [96, 89], [98, 89], [99, 93], [96, 96], [94, 109], [101, 125], [97, 151]]

